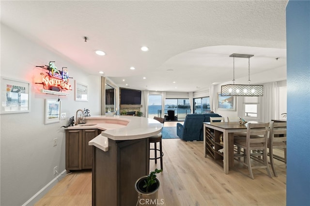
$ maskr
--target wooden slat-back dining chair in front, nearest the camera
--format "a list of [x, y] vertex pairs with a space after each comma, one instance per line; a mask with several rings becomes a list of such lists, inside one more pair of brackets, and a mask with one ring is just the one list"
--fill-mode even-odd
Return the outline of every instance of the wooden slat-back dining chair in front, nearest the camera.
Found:
[[[268, 140], [268, 123], [248, 123], [247, 137], [234, 139], [234, 145], [243, 148], [243, 154], [234, 154], [234, 159], [248, 167], [249, 176], [254, 179], [252, 169], [266, 168], [267, 174], [271, 177], [271, 173], [267, 160], [267, 140]], [[253, 136], [252, 136], [253, 135]], [[245, 161], [240, 161], [240, 156], [245, 157]], [[257, 158], [263, 156], [263, 159]], [[259, 165], [252, 166], [253, 161], [259, 162]]]

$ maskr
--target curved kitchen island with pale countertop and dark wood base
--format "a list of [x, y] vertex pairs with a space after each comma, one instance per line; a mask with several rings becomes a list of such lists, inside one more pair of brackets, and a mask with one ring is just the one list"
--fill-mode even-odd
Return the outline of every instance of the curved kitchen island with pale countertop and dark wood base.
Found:
[[149, 173], [148, 137], [161, 132], [162, 124], [133, 116], [87, 117], [85, 124], [68, 130], [99, 129], [93, 138], [93, 206], [136, 205], [135, 183]]

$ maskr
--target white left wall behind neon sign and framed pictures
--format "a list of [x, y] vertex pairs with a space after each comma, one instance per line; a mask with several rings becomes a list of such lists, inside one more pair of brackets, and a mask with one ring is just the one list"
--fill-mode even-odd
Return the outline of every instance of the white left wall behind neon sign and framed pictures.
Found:
[[[67, 67], [69, 83], [73, 90], [70, 96], [40, 93], [40, 73], [35, 66], [56, 61], [58, 68]], [[76, 116], [77, 109], [90, 109], [91, 115], [101, 113], [101, 77], [92, 76], [77, 65], [52, 51], [21, 36], [1, 24], [1, 71], [0, 75], [31, 82], [31, 112], [1, 114], [0, 136], [0, 205], [17, 206], [28, 201], [34, 194], [51, 182], [53, 168], [65, 170], [65, 133], [62, 125], [68, 118]], [[74, 80], [88, 85], [89, 101], [74, 100]], [[45, 99], [61, 100], [61, 112], [67, 119], [57, 123], [44, 124]], [[58, 145], [53, 147], [53, 139]]]

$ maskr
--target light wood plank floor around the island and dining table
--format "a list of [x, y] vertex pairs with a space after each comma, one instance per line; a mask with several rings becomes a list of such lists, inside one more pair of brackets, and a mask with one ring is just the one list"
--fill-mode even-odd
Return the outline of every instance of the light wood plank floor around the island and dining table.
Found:
[[[265, 169], [255, 169], [252, 180], [247, 167], [235, 162], [225, 175], [222, 165], [210, 157], [204, 158], [202, 141], [163, 139], [162, 143], [164, 171], [157, 178], [161, 184], [158, 199], [164, 206], [286, 205], [284, 166], [276, 168], [279, 177], [273, 178], [267, 176]], [[150, 171], [159, 168], [157, 164], [151, 161]], [[91, 179], [91, 172], [67, 175], [36, 206], [91, 206]]]

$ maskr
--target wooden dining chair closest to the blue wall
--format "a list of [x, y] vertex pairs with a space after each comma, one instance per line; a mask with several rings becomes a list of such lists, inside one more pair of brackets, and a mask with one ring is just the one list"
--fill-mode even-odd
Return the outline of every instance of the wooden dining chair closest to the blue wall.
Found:
[[[272, 172], [275, 177], [278, 177], [275, 166], [279, 166], [280, 164], [275, 165], [274, 159], [284, 162], [281, 165], [286, 166], [286, 122], [271, 122], [267, 147], [269, 148]], [[275, 155], [274, 149], [281, 149], [281, 151], [283, 149], [284, 157]]]

